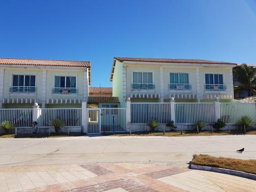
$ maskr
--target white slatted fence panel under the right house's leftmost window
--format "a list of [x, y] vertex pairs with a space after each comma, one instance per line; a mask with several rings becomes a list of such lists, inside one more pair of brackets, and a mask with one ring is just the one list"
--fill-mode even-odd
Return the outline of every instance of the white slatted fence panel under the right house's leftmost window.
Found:
[[147, 124], [153, 119], [160, 124], [170, 121], [170, 103], [131, 103], [132, 124]]

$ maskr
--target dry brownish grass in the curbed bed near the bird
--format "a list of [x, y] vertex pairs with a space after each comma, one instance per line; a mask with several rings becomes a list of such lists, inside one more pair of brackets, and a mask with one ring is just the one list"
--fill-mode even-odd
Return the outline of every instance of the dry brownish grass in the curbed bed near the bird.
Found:
[[242, 160], [224, 157], [212, 157], [209, 155], [194, 155], [193, 164], [239, 170], [250, 174], [256, 174], [256, 160]]

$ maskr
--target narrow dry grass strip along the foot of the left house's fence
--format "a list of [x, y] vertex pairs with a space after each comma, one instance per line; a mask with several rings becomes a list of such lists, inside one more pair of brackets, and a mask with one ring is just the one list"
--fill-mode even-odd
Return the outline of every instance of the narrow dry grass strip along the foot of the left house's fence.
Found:
[[50, 136], [48, 134], [18, 134], [15, 136], [15, 134], [5, 134], [5, 135], [0, 135], [0, 138], [55, 138], [55, 137], [79, 137], [79, 136], [84, 136], [84, 134], [81, 133], [51, 133]]

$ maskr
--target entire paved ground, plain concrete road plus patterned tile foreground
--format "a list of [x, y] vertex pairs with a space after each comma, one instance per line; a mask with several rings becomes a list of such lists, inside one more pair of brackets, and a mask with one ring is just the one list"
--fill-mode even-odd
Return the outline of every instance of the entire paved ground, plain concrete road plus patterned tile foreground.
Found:
[[252, 135], [0, 139], [0, 147], [0, 191], [256, 191], [256, 181], [187, 168], [195, 153], [255, 159]]

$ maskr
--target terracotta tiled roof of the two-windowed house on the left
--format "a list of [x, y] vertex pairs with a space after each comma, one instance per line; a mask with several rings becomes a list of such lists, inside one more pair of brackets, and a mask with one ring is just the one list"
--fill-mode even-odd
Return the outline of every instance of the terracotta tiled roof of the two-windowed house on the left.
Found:
[[0, 58], [0, 65], [91, 67], [90, 61]]

